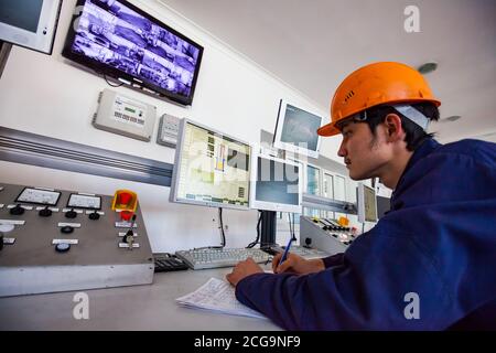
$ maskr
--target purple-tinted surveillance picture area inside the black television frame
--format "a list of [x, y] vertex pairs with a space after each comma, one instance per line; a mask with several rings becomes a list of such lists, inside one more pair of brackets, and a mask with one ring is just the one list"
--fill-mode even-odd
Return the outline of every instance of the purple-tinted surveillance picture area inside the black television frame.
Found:
[[[80, 11], [80, 10], [79, 10]], [[86, 0], [74, 23], [73, 54], [184, 97], [192, 95], [200, 49], [126, 7]]]

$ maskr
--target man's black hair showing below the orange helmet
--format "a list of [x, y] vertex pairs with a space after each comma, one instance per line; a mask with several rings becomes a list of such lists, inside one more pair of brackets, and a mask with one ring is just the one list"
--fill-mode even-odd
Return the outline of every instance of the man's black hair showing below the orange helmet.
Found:
[[[439, 120], [439, 109], [434, 104], [422, 101], [410, 104], [410, 106], [422, 113], [429, 120]], [[405, 141], [407, 142], [407, 149], [409, 151], [414, 151], [420, 145], [422, 145], [423, 141], [434, 137], [434, 133], [425, 132], [420, 126], [411, 121], [409, 118], [405, 117], [392, 106], [380, 105], [371, 107], [366, 111], [367, 119], [363, 122], [367, 122], [374, 137], [376, 137], [377, 126], [384, 122], [389, 114], [398, 115], [401, 119], [401, 127], [406, 132]]]

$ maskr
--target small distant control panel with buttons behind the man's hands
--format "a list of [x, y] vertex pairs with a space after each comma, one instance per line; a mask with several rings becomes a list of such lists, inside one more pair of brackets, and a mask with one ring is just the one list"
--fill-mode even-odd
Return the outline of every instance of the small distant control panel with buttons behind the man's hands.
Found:
[[311, 246], [331, 255], [343, 253], [356, 236], [331, 218], [300, 217], [300, 244]]

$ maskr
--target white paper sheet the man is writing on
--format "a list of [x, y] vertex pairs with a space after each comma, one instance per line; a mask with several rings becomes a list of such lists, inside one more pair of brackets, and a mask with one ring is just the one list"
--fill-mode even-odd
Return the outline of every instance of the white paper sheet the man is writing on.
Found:
[[194, 292], [177, 298], [181, 306], [207, 309], [231, 315], [242, 315], [266, 319], [260, 312], [241, 304], [235, 295], [235, 289], [228, 282], [211, 278]]

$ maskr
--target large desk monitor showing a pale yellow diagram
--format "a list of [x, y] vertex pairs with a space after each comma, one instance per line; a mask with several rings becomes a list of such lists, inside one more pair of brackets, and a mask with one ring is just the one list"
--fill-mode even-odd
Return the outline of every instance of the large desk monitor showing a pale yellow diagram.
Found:
[[250, 154], [248, 143], [182, 119], [170, 201], [249, 210]]

